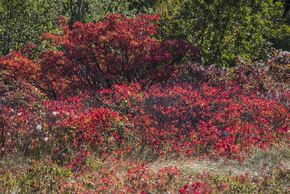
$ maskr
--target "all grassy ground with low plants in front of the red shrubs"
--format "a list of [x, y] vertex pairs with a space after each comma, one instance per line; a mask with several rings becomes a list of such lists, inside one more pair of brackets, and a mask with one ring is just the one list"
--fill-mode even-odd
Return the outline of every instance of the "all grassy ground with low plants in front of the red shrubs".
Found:
[[[113, 156], [98, 158], [92, 153], [85, 159], [85, 165], [91, 166], [91, 169], [86, 173], [71, 175], [65, 169], [56, 166], [54, 166], [54, 170], [47, 170], [49, 169], [47, 166], [52, 165], [50, 162], [35, 163], [21, 156], [7, 157], [0, 161], [0, 167], [2, 168], [0, 176], [0, 188], [2, 189], [0, 193], [102, 193], [101, 190], [98, 190], [98, 186], [100, 184], [99, 180], [104, 179], [104, 176], [105, 179], [116, 182], [114, 184], [103, 182], [102, 184], [108, 187], [108, 190], [105, 190], [104, 193], [114, 193], [119, 188], [125, 189], [125, 193], [141, 193], [141, 191], [160, 194], [181, 193], [182, 190], [180, 189], [184, 185], [195, 185], [196, 182], [201, 182], [209, 187], [198, 187], [194, 190], [197, 192], [188, 190], [188, 188], [193, 187], [186, 187], [187, 193], [288, 193], [290, 191], [288, 183], [288, 180], [290, 180], [290, 148], [288, 145], [266, 150], [256, 149], [253, 151], [253, 155], [244, 158], [243, 162], [225, 158], [211, 161], [190, 157], [157, 158], [154, 160], [150, 157], [116, 159]], [[140, 166], [143, 167], [140, 168]], [[170, 170], [168, 170], [169, 167]], [[173, 170], [174, 167], [177, 167], [178, 172]], [[15, 168], [18, 170], [13, 171]], [[6, 171], [3, 169], [6, 169]], [[11, 169], [11, 171], [7, 171], [7, 169]], [[132, 169], [138, 170], [132, 173]], [[163, 172], [163, 169], [167, 169], [167, 173], [160, 173]], [[115, 173], [112, 173], [113, 171]], [[4, 172], [6, 175], [4, 175]], [[9, 172], [9, 175], [7, 172]], [[24, 172], [26, 175], [24, 175]], [[50, 175], [43, 176], [45, 172], [50, 173]], [[57, 174], [58, 176], [54, 177], [51, 174]], [[144, 174], [148, 180], [143, 179]], [[174, 175], [172, 180], [167, 179], [168, 177], [164, 178], [166, 176], [170, 177], [172, 174]], [[245, 180], [239, 178], [244, 178], [244, 175], [249, 178]], [[63, 183], [60, 183], [61, 178], [59, 176], [63, 176], [63, 181], [66, 182], [66, 186], [70, 185], [72, 187], [71, 190], [63, 190]], [[38, 179], [37, 177], [46, 178]], [[128, 177], [134, 179], [134, 181], [131, 181]], [[38, 186], [32, 184], [33, 180], [37, 180]], [[160, 186], [160, 182], [164, 180], [167, 181], [165, 183], [168, 184], [168, 187]], [[55, 184], [48, 186], [49, 182], [55, 182]], [[78, 184], [79, 186], [77, 186]], [[134, 184], [143, 185], [143, 187], [141, 189], [138, 187], [140, 189], [138, 190]], [[226, 186], [222, 186], [222, 184], [226, 184]], [[130, 190], [127, 187], [134, 189]]]

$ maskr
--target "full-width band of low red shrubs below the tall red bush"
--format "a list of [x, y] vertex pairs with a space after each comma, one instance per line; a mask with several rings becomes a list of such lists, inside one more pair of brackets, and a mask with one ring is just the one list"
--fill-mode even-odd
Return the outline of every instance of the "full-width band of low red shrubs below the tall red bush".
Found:
[[76, 97], [26, 100], [23, 107], [13, 101], [14, 90], [5, 91], [2, 154], [48, 154], [61, 162], [70, 150], [243, 160], [253, 148], [289, 141], [288, 58], [276, 52], [266, 64], [232, 70], [180, 64], [178, 76], [147, 89], [113, 84]]

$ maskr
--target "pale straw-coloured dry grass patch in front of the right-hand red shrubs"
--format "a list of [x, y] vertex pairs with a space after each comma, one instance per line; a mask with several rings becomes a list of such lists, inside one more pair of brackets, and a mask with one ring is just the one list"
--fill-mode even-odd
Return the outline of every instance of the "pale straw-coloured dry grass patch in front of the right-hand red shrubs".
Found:
[[287, 145], [267, 150], [256, 149], [252, 156], [245, 156], [243, 162], [224, 158], [218, 161], [197, 160], [195, 158], [158, 159], [150, 163], [149, 167], [153, 172], [157, 172], [166, 166], [177, 166], [184, 175], [197, 175], [206, 171], [220, 176], [243, 175], [245, 173], [254, 176], [261, 172], [263, 164], [270, 167], [279, 166], [281, 163], [284, 166], [290, 166], [290, 148]]

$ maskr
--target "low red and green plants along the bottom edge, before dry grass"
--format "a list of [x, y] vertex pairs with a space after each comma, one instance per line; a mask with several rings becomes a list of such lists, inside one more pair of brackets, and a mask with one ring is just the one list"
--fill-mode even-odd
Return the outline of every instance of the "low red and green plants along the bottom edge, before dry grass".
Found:
[[[31, 161], [25, 169], [0, 169], [2, 193], [287, 193], [289, 169], [267, 168], [250, 177], [249, 174], [220, 177], [203, 172], [197, 176], [185, 176], [177, 167], [169, 166], [154, 173], [148, 166], [133, 164], [124, 174], [117, 170], [101, 169], [97, 173], [75, 174], [53, 164], [51, 160]], [[265, 168], [266, 169], [266, 168]]]

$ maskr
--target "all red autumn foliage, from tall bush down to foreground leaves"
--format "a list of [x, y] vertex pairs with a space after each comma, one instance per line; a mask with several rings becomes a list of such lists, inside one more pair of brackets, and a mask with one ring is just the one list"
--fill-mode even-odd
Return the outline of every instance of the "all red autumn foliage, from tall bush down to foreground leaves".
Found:
[[[137, 165], [122, 176], [127, 182], [122, 185], [113, 171], [90, 175], [85, 161], [91, 153], [104, 160], [150, 155], [243, 161], [256, 148], [289, 143], [290, 54], [275, 51], [271, 61], [232, 69], [206, 67], [194, 62], [195, 46], [156, 40], [158, 20], [157, 15], [110, 15], [96, 24], [76, 22], [69, 30], [60, 18], [62, 34], [44, 34], [49, 50], [37, 58], [32, 44], [2, 56], [0, 158], [46, 156], [88, 173], [92, 185], [67, 182], [65, 170], [57, 168], [56, 176], [65, 177], [50, 177], [58, 193], [76, 193], [78, 186], [83, 189], [78, 193], [89, 193], [85, 188], [96, 185], [99, 193], [107, 187], [123, 189], [114, 193], [156, 188], [162, 193], [169, 190], [165, 182], [185, 179], [178, 169], [152, 173]], [[50, 172], [55, 164], [33, 162], [27, 169], [37, 171], [39, 165]], [[28, 176], [16, 174], [20, 181]], [[227, 190], [224, 182], [214, 187], [210, 180], [176, 185], [172, 193]], [[41, 190], [41, 181], [31, 179], [31, 185]]]

